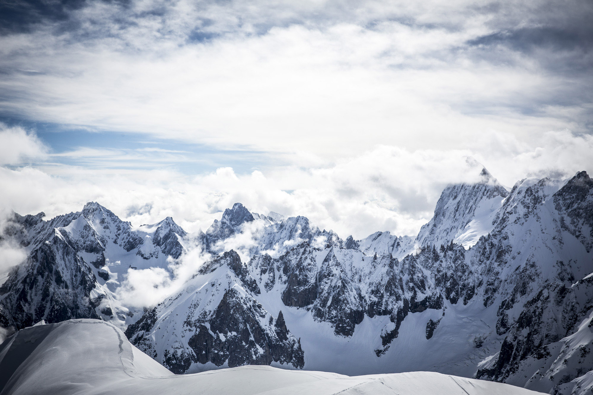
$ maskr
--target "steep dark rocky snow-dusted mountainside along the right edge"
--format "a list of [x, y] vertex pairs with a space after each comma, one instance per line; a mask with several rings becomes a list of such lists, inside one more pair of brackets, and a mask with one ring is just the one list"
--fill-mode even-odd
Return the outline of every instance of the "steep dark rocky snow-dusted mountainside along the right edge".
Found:
[[[590, 258], [579, 260], [579, 253], [568, 262], [557, 257], [575, 251], [574, 247], [570, 247], [570, 252], [559, 254], [558, 251], [565, 248], [566, 233], [563, 231], [575, 236], [588, 253], [591, 251], [591, 237], [582, 230], [589, 226], [587, 213], [591, 210], [589, 205], [593, 199], [592, 184], [593, 181], [584, 172], [577, 173], [557, 192], [547, 179], [533, 184], [520, 181], [500, 210], [499, 222], [490, 234], [489, 239], [498, 239], [498, 243], [487, 240], [483, 246], [480, 246], [481, 243], [476, 246], [480, 250], [475, 253], [492, 262], [489, 265], [492, 277], [488, 283], [493, 286], [487, 295], [490, 300], [499, 296], [496, 333], [505, 336], [495, 363], [479, 369], [476, 377], [517, 382], [523, 377], [523, 372], [530, 369], [530, 364], [537, 363], [539, 373], [537, 377], [531, 377], [526, 385], [543, 381], [543, 385], [550, 387], [554, 393], [570, 393], [572, 388], [580, 386], [575, 383], [568, 386], [567, 383], [581, 377], [585, 371], [571, 371], [567, 361], [577, 355], [571, 345], [578, 342], [570, 339], [571, 336], [578, 338], [579, 324], [588, 316], [593, 300], [592, 279], [577, 279], [593, 270], [593, 262]], [[550, 212], [554, 216], [546, 218]], [[510, 244], [513, 235], [509, 228], [514, 226], [527, 229], [531, 238], [525, 238], [525, 243], [533, 244], [534, 238], [541, 238], [538, 243], [545, 252], [537, 254], [533, 248], [523, 249], [517, 241], [514, 245]], [[548, 235], [551, 237], [548, 238]], [[481, 250], [486, 244], [493, 247], [490, 256]], [[522, 262], [522, 265], [515, 266], [503, 281], [494, 282], [492, 278], [500, 278], [504, 268], [513, 261]], [[563, 346], [557, 345], [559, 343]], [[562, 361], [560, 358], [565, 358], [562, 369], [552, 364], [554, 359]], [[579, 364], [590, 365], [584, 359]], [[559, 370], [569, 374], [553, 373]]]

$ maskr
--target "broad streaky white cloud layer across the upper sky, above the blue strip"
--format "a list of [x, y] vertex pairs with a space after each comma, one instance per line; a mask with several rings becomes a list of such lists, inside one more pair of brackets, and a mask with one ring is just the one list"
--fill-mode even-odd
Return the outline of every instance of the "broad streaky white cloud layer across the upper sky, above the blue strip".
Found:
[[591, 7], [551, 5], [132, 1], [37, 10], [29, 33], [0, 37], [0, 114], [264, 151], [304, 166], [377, 144], [475, 151], [488, 130], [524, 144], [549, 130], [588, 133], [593, 78], [570, 65], [589, 57], [547, 45], [545, 32], [582, 48]]

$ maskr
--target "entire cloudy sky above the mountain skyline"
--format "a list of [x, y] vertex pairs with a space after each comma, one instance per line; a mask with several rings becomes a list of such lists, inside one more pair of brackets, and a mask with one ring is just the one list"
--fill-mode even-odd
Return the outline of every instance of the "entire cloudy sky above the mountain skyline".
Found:
[[464, 157], [593, 171], [593, 2], [0, 5], [0, 206], [415, 234]]

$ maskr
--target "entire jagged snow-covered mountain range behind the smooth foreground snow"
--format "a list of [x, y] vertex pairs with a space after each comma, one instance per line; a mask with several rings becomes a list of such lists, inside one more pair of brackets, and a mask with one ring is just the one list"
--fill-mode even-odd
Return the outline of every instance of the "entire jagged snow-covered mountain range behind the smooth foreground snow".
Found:
[[[436, 371], [589, 393], [593, 181], [525, 179], [509, 192], [478, 171], [444, 190], [416, 237], [342, 240], [240, 203], [194, 235], [170, 218], [135, 228], [96, 203], [51, 221], [15, 215], [9, 236], [30, 254], [0, 288], [0, 319], [111, 320], [176, 373]], [[114, 296], [127, 270], [167, 269], [195, 244], [212, 259], [144, 314]]]

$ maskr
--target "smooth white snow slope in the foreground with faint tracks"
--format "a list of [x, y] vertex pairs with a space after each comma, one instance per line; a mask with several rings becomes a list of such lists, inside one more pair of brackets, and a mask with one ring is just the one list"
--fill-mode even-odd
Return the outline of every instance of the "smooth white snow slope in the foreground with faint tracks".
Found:
[[69, 320], [28, 327], [0, 345], [1, 395], [398, 394], [530, 395], [508, 384], [434, 372], [349, 377], [244, 366], [174, 375], [112, 324]]

